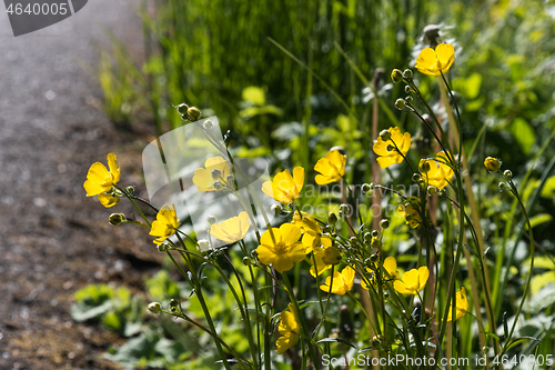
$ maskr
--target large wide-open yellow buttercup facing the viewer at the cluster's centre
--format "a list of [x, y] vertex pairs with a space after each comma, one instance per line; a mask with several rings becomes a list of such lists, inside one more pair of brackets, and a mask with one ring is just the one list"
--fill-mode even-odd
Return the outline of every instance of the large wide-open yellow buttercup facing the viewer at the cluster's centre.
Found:
[[306, 257], [306, 247], [303, 246], [301, 229], [292, 223], [284, 223], [279, 229], [272, 228], [273, 237], [270, 230], [266, 230], [260, 238], [260, 246], [256, 248], [259, 260], [272, 267], [278, 272], [289, 271], [294, 262], [301, 262]]

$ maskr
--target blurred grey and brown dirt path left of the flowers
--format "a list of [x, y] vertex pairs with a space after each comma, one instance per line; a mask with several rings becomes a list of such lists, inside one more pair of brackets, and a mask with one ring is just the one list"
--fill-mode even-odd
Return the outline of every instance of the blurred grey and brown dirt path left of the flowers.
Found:
[[141, 57], [138, 1], [93, 0], [69, 19], [14, 38], [0, 20], [0, 369], [117, 369], [100, 354], [121, 339], [74, 322], [89, 283], [142, 289], [161, 257], [142, 230], [108, 223], [83, 181], [109, 152], [121, 184], [144, 189], [144, 136], [119, 132], [98, 109], [99, 48], [113, 32]]

